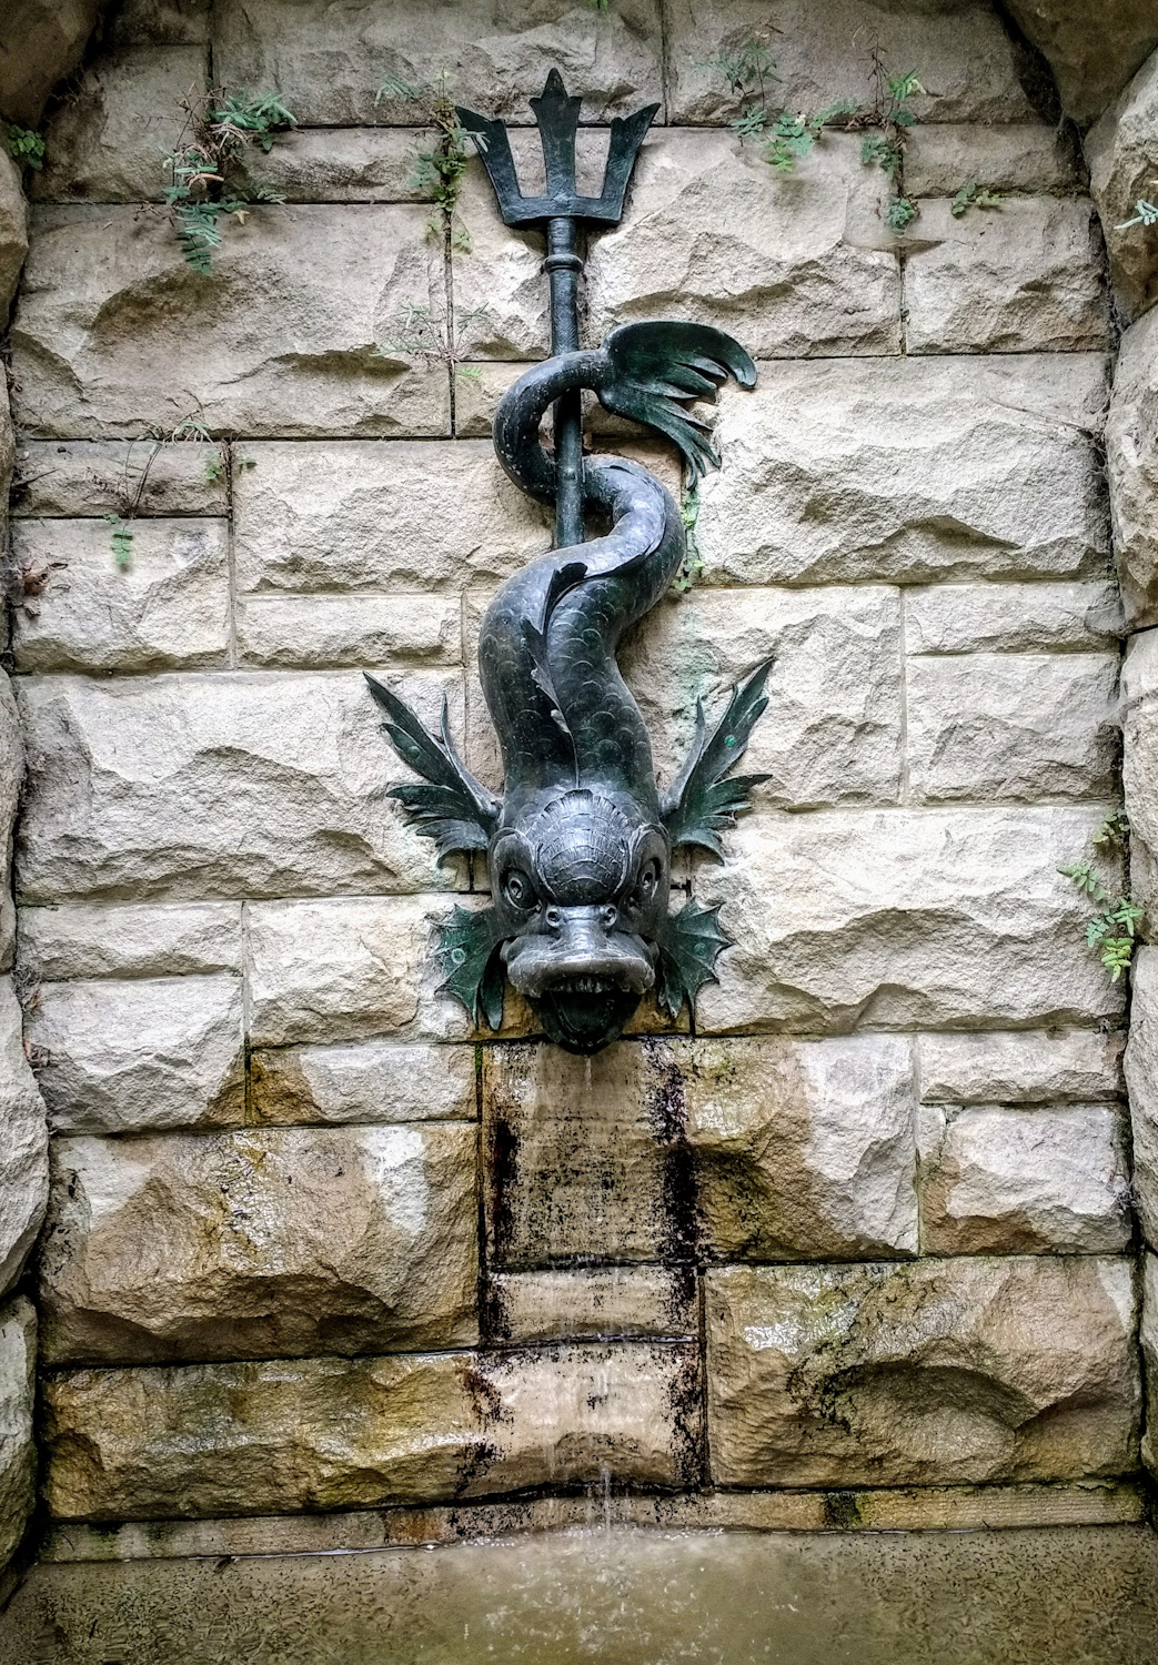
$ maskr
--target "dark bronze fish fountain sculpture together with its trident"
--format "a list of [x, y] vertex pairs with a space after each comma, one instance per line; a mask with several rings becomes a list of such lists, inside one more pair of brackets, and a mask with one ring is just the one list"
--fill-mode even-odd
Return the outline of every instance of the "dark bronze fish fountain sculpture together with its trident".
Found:
[[[575, 132], [580, 100], [552, 70], [532, 100], [543, 143], [545, 195], [520, 193], [502, 122], [460, 110], [480, 147], [508, 225], [547, 228], [553, 356], [530, 370], [495, 415], [495, 450], [515, 483], [553, 504], [555, 549], [508, 579], [483, 619], [478, 664], [503, 753], [502, 799], [455, 751], [443, 711], [430, 734], [410, 708], [368, 676], [387, 713], [385, 733], [418, 776], [393, 796], [440, 856], [485, 851], [492, 906], [455, 907], [442, 931], [445, 987], [497, 1029], [503, 982], [530, 1001], [543, 1029], [572, 1052], [596, 1052], [623, 1031], [646, 989], [676, 1017], [715, 977], [728, 944], [715, 907], [695, 899], [668, 911], [671, 851], [721, 856], [720, 832], [765, 776], [731, 776], [768, 704], [770, 661], [731, 691], [696, 738], [666, 791], [655, 784], [643, 718], [616, 664], [623, 633], [666, 593], [685, 558], [678, 504], [636, 463], [585, 458], [580, 395], [666, 435], [698, 478], [718, 468], [705, 425], [688, 406], [715, 400], [756, 368], [710, 325], [633, 323], [595, 351], [578, 341], [577, 226], [615, 225], [655, 105], [611, 123], [603, 191], [580, 196]], [[540, 443], [553, 406], [555, 446]], [[585, 541], [585, 514], [610, 523]]]

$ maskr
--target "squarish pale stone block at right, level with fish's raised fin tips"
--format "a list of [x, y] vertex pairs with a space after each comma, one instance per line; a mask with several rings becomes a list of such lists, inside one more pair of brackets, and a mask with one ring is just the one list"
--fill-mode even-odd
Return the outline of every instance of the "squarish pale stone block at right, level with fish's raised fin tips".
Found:
[[1116, 653], [913, 656], [906, 683], [913, 801], [1115, 796]]

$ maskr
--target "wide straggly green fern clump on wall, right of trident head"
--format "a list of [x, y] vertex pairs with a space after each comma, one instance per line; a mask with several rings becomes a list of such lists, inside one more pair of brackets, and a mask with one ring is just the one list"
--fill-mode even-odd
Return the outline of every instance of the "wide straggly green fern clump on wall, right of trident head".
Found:
[[840, 98], [823, 110], [786, 110], [773, 108], [768, 102], [768, 83], [776, 80], [776, 60], [766, 37], [751, 35], [710, 58], [693, 58], [693, 65], [721, 75], [731, 97], [745, 102], [731, 125], [741, 138], [760, 143], [765, 160], [778, 173], [791, 173], [828, 128], [865, 132], [860, 160], [878, 166], [890, 183], [885, 223], [893, 231], [903, 231], [913, 223], [918, 208], [905, 195], [903, 168], [906, 133], [916, 122], [910, 100], [925, 92], [916, 70], [890, 75], [880, 55], [873, 53], [871, 105]]

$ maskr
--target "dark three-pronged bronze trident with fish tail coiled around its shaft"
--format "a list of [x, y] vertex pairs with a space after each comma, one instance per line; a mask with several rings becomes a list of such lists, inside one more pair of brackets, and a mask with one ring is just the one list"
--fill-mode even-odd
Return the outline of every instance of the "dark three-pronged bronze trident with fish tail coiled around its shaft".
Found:
[[[543, 92], [530, 100], [535, 112], [547, 190], [542, 196], [523, 196], [515, 173], [507, 125], [477, 110], [457, 110], [467, 133], [475, 138], [483, 166], [495, 186], [498, 208], [507, 225], [547, 226], [547, 260], [543, 268], [552, 285], [552, 353], [578, 350], [578, 278], [583, 258], [577, 246], [577, 221], [593, 226], [618, 225], [623, 196], [640, 145], [651, 127], [658, 105], [645, 105], [626, 118], [615, 117], [598, 196], [580, 196], [575, 183], [575, 135], [581, 98], [570, 98], [558, 70], [550, 70]], [[580, 395], [568, 393], [555, 403], [555, 548], [565, 549], [583, 541], [583, 416]]]

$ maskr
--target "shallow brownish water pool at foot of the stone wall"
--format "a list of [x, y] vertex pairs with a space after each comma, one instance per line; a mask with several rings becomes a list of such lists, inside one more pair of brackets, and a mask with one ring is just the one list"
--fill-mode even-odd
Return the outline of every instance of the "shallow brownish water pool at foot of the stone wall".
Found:
[[[55, 1563], [3, 1665], [1153, 1665], [1146, 1527], [666, 1533]], [[593, 1498], [598, 1510], [598, 1498]]]

